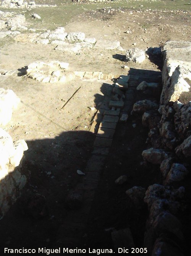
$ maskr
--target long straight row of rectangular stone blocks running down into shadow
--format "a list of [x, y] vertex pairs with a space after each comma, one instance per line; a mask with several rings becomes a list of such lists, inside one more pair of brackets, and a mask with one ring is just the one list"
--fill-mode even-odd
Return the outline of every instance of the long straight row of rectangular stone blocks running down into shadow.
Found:
[[[87, 223], [91, 203], [94, 199], [95, 190], [100, 179], [100, 172], [109, 154], [115, 128], [119, 121], [120, 109], [123, 108], [124, 105], [124, 90], [128, 88], [128, 79], [129, 76], [121, 76], [117, 83], [113, 85], [108, 84], [108, 92], [91, 126], [90, 131], [97, 133], [94, 141], [94, 149], [91, 157], [87, 161], [85, 168], [86, 175], [83, 177], [83, 182], [79, 183], [75, 188], [75, 191], [83, 197], [83, 207], [78, 210], [80, 225], [79, 220], [76, 219], [76, 213], [71, 213], [70, 218], [66, 221], [67, 228], [73, 229], [75, 224], [79, 227], [78, 231], [81, 232], [81, 234], [83, 234]], [[112, 92], [115, 100], [111, 100]]]

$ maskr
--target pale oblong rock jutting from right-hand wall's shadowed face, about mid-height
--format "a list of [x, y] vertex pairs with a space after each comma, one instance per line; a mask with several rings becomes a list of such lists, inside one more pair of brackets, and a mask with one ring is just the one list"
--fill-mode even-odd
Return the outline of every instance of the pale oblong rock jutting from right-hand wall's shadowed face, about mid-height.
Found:
[[162, 149], [147, 149], [142, 152], [142, 157], [152, 164], [161, 164], [164, 159], [167, 159], [169, 154], [167, 154]]

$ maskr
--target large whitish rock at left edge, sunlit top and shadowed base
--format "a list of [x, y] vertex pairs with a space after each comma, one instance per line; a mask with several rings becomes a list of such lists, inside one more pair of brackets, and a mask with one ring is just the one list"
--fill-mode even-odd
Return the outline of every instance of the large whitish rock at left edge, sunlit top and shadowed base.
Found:
[[24, 140], [13, 143], [11, 136], [0, 128], [0, 218], [16, 201], [26, 183], [26, 177], [21, 175], [20, 168], [23, 152], [27, 149]]

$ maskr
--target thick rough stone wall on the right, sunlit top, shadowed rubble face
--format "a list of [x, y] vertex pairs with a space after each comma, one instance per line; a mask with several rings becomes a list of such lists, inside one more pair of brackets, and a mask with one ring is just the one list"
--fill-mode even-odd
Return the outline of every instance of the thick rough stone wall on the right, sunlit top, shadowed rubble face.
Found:
[[[163, 47], [162, 93], [157, 111], [143, 114], [150, 127], [142, 152], [146, 162], [160, 165], [162, 185], [149, 186], [144, 201], [148, 205], [144, 247], [151, 255], [183, 255], [183, 233], [178, 213], [185, 210], [185, 188], [191, 157], [191, 43], [168, 41]], [[159, 113], [161, 118], [159, 118]], [[156, 119], [157, 117], [157, 119]], [[159, 121], [160, 120], [160, 121]], [[155, 122], [155, 126], [151, 124]], [[170, 236], [169, 236], [170, 234]], [[162, 255], [161, 254], [161, 255]]]

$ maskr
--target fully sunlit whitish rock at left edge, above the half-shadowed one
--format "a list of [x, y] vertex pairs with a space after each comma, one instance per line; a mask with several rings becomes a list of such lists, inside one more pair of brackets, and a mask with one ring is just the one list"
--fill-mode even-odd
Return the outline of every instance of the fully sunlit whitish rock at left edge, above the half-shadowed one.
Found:
[[18, 107], [20, 99], [12, 90], [0, 88], [0, 126], [5, 126], [12, 117], [13, 110]]

